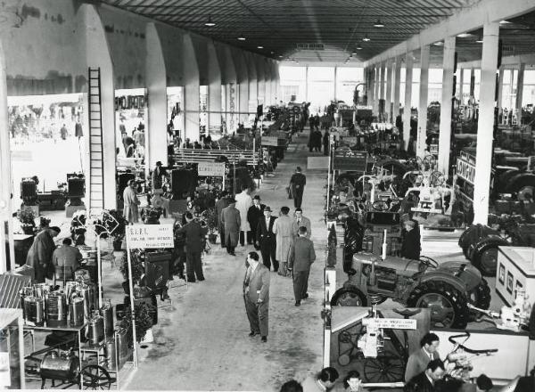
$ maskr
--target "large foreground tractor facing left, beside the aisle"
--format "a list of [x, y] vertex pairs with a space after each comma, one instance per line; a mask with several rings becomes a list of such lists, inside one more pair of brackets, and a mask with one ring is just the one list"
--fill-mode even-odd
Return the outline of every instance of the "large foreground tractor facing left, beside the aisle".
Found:
[[[433, 327], [464, 329], [468, 304], [488, 309], [490, 288], [473, 265], [430, 257], [410, 260], [357, 253], [346, 270], [349, 279], [333, 294], [333, 306], [371, 306], [388, 298], [407, 307], [429, 308]], [[477, 304], [477, 305], [476, 305]]]

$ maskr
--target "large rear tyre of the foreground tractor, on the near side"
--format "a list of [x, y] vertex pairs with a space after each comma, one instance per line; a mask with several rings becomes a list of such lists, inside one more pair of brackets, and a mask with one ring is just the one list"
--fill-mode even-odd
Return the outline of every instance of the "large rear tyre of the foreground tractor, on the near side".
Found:
[[[445, 305], [450, 306], [446, 311]], [[432, 328], [463, 330], [470, 314], [465, 294], [451, 284], [440, 281], [423, 282], [416, 286], [407, 298], [407, 307], [430, 307]]]

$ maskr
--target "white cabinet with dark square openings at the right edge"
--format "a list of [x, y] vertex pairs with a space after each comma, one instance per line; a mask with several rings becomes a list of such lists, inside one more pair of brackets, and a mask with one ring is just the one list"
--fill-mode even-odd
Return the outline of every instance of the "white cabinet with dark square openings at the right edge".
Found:
[[535, 298], [535, 249], [498, 247], [496, 292], [507, 306], [513, 306], [516, 290], [523, 289], [530, 301]]

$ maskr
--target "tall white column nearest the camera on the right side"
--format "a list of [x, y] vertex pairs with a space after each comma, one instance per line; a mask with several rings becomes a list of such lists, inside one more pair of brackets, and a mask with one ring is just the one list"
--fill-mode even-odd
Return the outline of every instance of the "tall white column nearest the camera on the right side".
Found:
[[481, 55], [480, 113], [477, 124], [475, 177], [473, 185], [473, 223], [487, 225], [489, 216], [490, 167], [492, 164], [492, 131], [494, 128], [494, 95], [498, 68], [498, 21], [483, 25]]

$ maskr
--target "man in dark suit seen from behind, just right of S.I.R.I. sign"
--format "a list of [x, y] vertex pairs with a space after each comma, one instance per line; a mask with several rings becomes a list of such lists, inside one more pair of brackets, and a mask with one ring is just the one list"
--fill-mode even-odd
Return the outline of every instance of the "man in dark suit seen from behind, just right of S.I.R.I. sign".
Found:
[[208, 233], [206, 227], [193, 220], [191, 212], [185, 213], [187, 224], [180, 227], [177, 233], [185, 233], [185, 265], [187, 282], [195, 282], [195, 275], [199, 282], [204, 281], [202, 274], [201, 253], [204, 243], [204, 236]]

